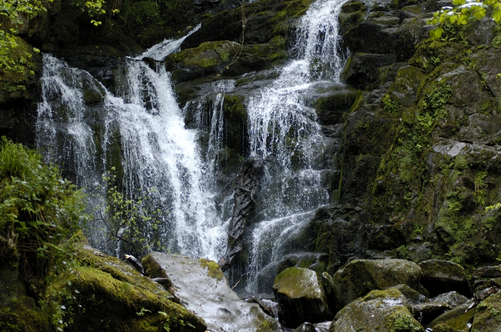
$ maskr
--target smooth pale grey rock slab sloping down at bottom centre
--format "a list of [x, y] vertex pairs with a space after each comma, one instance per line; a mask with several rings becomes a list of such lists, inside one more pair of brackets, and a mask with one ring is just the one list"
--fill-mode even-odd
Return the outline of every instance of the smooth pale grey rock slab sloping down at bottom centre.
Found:
[[242, 301], [228, 286], [219, 265], [212, 260], [151, 252], [143, 258], [142, 264], [150, 277], [169, 278], [172, 294], [188, 310], [202, 317], [211, 331], [282, 330], [258, 304]]

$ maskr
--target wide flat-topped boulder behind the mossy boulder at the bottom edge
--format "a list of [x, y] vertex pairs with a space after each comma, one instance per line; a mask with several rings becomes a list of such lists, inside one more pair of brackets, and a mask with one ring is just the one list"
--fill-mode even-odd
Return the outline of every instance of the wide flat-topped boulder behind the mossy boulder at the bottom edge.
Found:
[[374, 289], [401, 283], [421, 289], [419, 266], [405, 259], [355, 259], [333, 275], [336, 310]]

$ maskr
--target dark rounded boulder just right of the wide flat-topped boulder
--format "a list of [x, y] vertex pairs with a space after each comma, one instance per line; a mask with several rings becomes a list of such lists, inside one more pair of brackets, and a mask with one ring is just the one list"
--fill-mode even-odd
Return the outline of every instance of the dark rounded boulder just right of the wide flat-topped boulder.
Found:
[[431, 296], [449, 292], [471, 296], [471, 288], [464, 272], [464, 268], [448, 260], [425, 260], [419, 263], [423, 272], [421, 284], [430, 292]]

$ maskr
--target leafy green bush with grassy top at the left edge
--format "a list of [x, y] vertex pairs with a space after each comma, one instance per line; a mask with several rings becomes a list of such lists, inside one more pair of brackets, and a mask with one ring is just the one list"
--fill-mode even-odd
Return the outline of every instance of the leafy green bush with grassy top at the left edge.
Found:
[[[84, 221], [83, 194], [42, 156], [2, 138], [0, 145], [0, 260], [18, 265], [40, 295], [53, 269], [71, 259], [69, 234]], [[70, 248], [70, 249], [68, 249]]]

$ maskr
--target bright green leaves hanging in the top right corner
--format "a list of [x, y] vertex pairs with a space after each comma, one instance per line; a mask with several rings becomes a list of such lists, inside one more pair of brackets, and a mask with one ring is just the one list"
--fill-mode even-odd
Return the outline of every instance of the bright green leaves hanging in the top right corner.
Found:
[[433, 13], [433, 17], [428, 20], [428, 24], [438, 26], [430, 30], [430, 37], [438, 39], [442, 36], [443, 24], [446, 22], [464, 25], [468, 21], [478, 20], [485, 16], [487, 9], [492, 10], [492, 19], [499, 23], [501, 21], [501, 1], [500, 0], [453, 0], [453, 6], [442, 7]]

